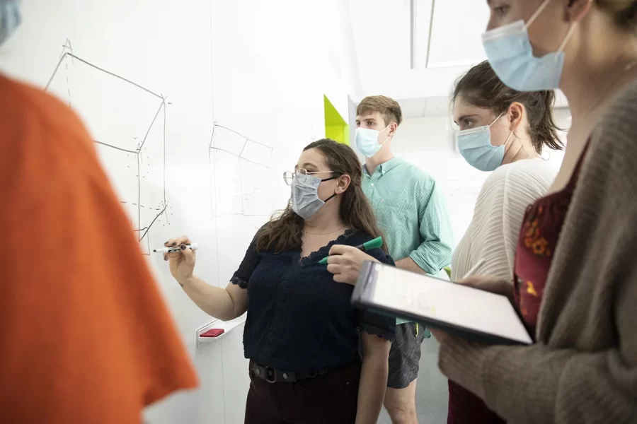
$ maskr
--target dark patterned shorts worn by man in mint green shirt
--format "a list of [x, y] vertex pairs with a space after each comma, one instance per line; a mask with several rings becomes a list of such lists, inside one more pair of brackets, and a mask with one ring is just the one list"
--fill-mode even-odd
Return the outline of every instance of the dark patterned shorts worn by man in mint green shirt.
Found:
[[420, 345], [429, 331], [423, 324], [407, 322], [396, 326], [396, 336], [389, 351], [387, 387], [404, 389], [418, 378]]

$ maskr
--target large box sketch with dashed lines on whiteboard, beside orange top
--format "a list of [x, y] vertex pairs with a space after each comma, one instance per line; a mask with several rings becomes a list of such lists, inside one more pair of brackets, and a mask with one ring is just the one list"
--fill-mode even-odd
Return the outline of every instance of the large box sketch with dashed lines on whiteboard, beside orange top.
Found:
[[[166, 97], [92, 64], [64, 43], [45, 90], [81, 116], [131, 219], [144, 254], [150, 230], [169, 225], [166, 201]], [[142, 243], [143, 242], [143, 243]]]

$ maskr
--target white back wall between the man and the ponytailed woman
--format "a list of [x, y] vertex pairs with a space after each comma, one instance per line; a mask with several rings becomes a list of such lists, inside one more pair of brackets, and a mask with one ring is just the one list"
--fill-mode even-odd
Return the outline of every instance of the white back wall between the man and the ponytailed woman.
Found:
[[[568, 110], [556, 110], [555, 116], [558, 126], [564, 129], [570, 126]], [[447, 115], [404, 119], [392, 141], [392, 148], [396, 156], [436, 179], [447, 200], [457, 243], [471, 222], [476, 199], [489, 173], [471, 167], [454, 150], [451, 123]], [[546, 158], [558, 169], [563, 152], [550, 151]]]

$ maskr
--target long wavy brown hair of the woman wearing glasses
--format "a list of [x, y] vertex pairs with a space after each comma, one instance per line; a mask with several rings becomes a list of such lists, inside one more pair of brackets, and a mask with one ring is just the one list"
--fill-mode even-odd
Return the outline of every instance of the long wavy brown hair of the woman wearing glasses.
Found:
[[[361, 166], [356, 153], [345, 144], [337, 143], [331, 139], [322, 139], [310, 143], [303, 151], [316, 148], [326, 159], [327, 165], [334, 175], [349, 175], [352, 179], [350, 187], [340, 194], [340, 219], [345, 225], [355, 230], [364, 232], [369, 237], [382, 236], [381, 230], [376, 224], [376, 217], [372, 206], [367, 201], [361, 187]], [[286, 250], [301, 249], [301, 236], [304, 220], [292, 211], [292, 202], [280, 212], [279, 216], [272, 217], [270, 222], [263, 225], [256, 235], [256, 249], [273, 250], [275, 253]], [[387, 247], [383, 243], [383, 250]]]

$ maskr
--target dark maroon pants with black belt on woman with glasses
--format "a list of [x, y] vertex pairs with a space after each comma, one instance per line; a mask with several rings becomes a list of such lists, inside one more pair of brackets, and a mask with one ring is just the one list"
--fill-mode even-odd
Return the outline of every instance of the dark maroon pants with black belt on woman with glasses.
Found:
[[250, 375], [246, 424], [352, 424], [360, 363], [298, 382], [268, 383]]

